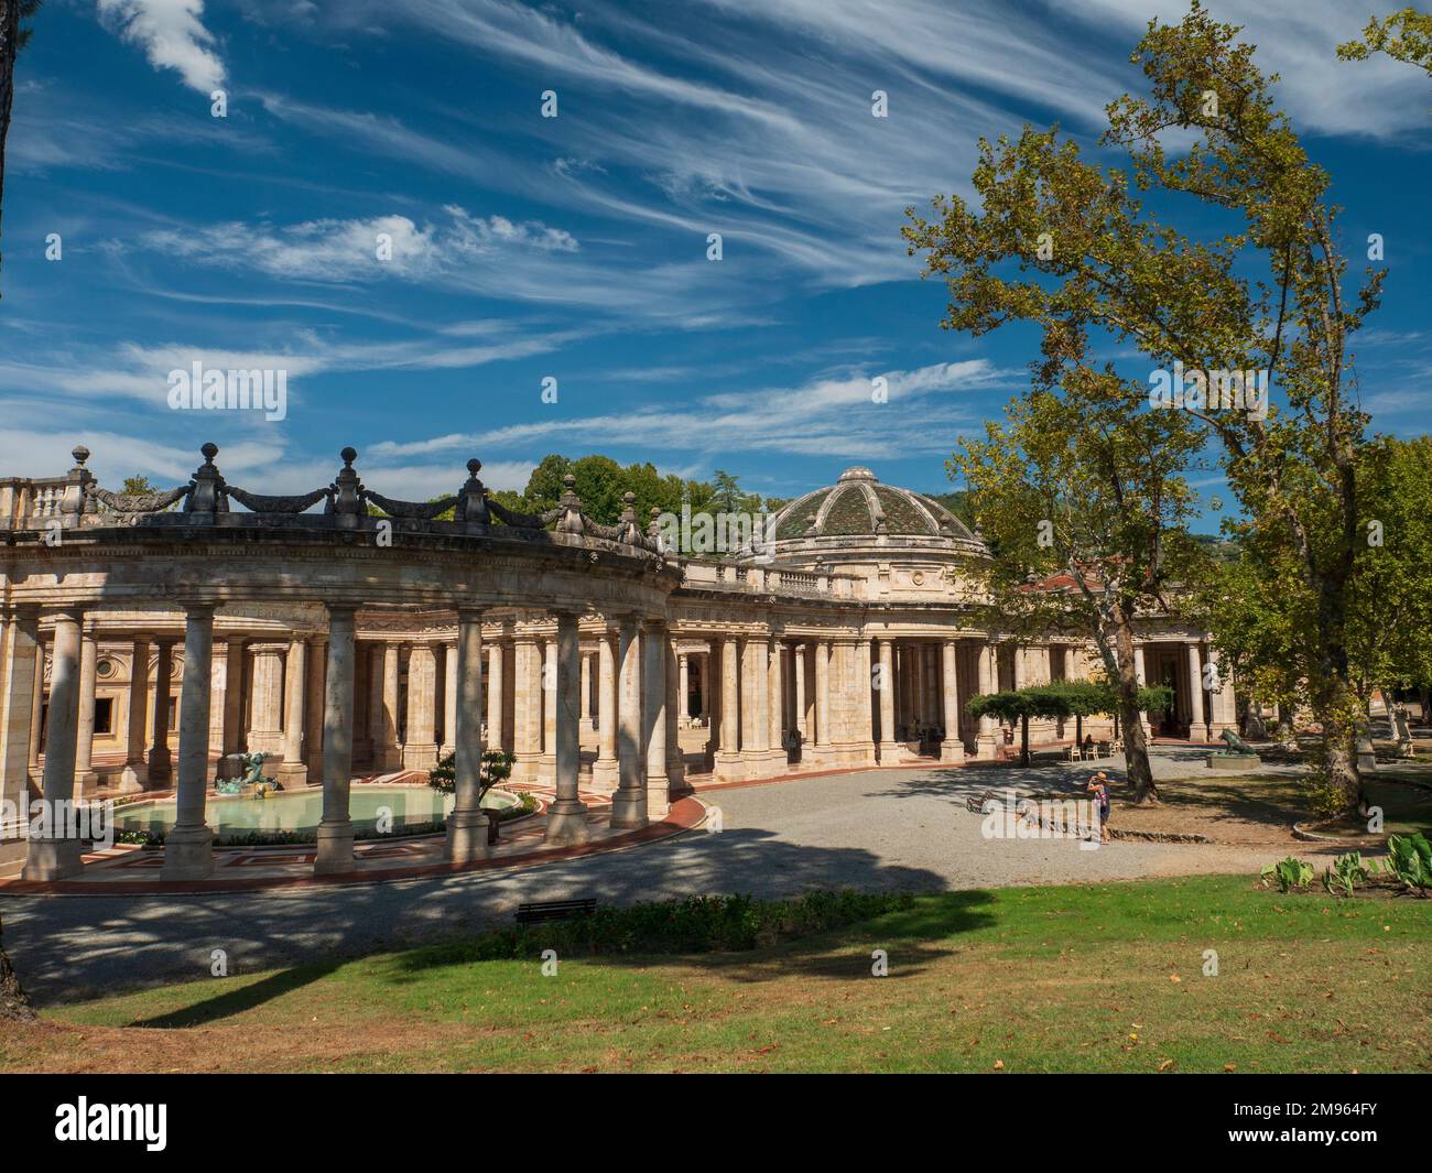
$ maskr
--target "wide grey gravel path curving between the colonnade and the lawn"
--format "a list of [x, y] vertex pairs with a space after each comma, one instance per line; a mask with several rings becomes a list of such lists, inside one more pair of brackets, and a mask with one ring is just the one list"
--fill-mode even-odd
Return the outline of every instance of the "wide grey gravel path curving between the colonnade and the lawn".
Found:
[[[1104, 766], [1108, 768], [1107, 763]], [[1160, 778], [1194, 763], [1156, 758]], [[1201, 762], [1197, 763], [1201, 768]], [[0, 895], [4, 942], [39, 1003], [358, 954], [510, 919], [520, 901], [626, 904], [700, 892], [790, 897], [812, 888], [945, 891], [1244, 872], [1264, 849], [985, 839], [965, 799], [991, 788], [1068, 788], [1083, 766], [886, 769], [700, 792], [719, 834], [693, 831], [600, 856], [352, 887], [203, 895]], [[1110, 769], [1110, 773], [1117, 772]]]

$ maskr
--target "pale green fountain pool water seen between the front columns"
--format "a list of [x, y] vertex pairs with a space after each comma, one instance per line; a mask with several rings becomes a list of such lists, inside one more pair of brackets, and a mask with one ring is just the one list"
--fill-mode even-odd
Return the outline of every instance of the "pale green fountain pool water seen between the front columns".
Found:
[[[517, 803], [505, 791], [488, 791], [483, 806], [501, 809]], [[348, 809], [355, 828], [377, 826], [379, 815], [391, 819], [391, 829], [401, 831], [414, 824], [434, 822], [453, 809], [453, 795], [431, 786], [354, 786]], [[281, 791], [258, 799], [246, 795], [209, 795], [206, 805], [209, 826], [218, 836], [242, 835], [248, 831], [312, 831], [324, 815], [322, 788]], [[115, 811], [116, 831], [168, 831], [175, 822], [173, 799], [136, 802]]]

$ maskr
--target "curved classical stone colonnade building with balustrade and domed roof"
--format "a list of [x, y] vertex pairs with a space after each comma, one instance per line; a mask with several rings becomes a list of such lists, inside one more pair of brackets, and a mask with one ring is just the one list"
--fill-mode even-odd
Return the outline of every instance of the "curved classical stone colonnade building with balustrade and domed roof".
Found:
[[[63, 477], [0, 481], [0, 798], [176, 791], [169, 878], [212, 868], [205, 809], [229, 753], [322, 788], [319, 872], [352, 868], [355, 778], [455, 753], [447, 849], [467, 861], [487, 849], [484, 749], [553, 791], [546, 834], [570, 844], [579, 783], [637, 828], [693, 776], [1001, 756], [1008, 732], [969, 718], [969, 696], [1093, 667], [1078, 642], [978, 626], [962, 567], [984, 543], [866, 468], [786, 506], [759, 557], [707, 560], [664, 553], [630, 494], [617, 524], [594, 521], [570, 478], [540, 516], [493, 501], [475, 460], [453, 496], [401, 501], [345, 448], [331, 484], [272, 497], [226, 483], [216, 453], [143, 496], [102, 488], [83, 448]], [[1204, 689], [1203, 633], [1143, 634], [1140, 673], [1176, 696], [1153, 732], [1234, 728], [1232, 685]], [[77, 839], [32, 835], [27, 877], [79, 868]]]

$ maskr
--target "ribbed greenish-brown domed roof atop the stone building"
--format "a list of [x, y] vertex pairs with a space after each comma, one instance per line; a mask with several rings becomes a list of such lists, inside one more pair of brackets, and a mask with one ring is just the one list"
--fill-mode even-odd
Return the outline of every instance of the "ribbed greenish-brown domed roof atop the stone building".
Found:
[[919, 493], [881, 484], [869, 470], [846, 468], [826, 488], [806, 493], [782, 508], [770, 531], [772, 540], [914, 537], [977, 539], [948, 508]]

